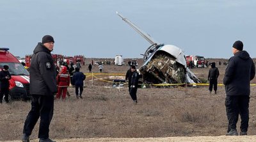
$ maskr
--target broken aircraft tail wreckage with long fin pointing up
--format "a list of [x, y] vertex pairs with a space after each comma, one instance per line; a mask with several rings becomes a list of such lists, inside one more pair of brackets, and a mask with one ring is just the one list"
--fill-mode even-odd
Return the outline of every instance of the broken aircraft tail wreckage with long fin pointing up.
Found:
[[187, 67], [186, 56], [179, 47], [155, 42], [147, 33], [141, 31], [138, 26], [120, 15], [120, 13], [116, 12], [116, 14], [151, 43], [145, 54], [143, 54], [145, 62], [139, 68], [143, 76], [143, 83], [201, 83], [200, 79]]

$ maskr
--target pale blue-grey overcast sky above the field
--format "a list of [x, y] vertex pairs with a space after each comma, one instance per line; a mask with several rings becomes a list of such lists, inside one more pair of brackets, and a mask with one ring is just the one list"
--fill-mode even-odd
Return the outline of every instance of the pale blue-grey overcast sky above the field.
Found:
[[0, 0], [0, 47], [32, 54], [52, 35], [54, 54], [142, 58], [150, 46], [116, 11], [159, 43], [186, 55], [230, 58], [236, 40], [256, 58], [256, 1], [246, 0]]

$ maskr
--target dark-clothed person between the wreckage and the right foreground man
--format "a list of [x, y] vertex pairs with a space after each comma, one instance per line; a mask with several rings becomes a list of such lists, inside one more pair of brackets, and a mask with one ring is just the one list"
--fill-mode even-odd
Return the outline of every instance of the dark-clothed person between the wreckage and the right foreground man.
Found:
[[212, 93], [212, 86], [214, 93], [217, 93], [217, 84], [218, 84], [218, 77], [220, 75], [219, 69], [215, 66], [215, 62], [211, 63], [211, 68], [208, 74], [208, 81], [209, 81], [209, 91], [210, 94]]

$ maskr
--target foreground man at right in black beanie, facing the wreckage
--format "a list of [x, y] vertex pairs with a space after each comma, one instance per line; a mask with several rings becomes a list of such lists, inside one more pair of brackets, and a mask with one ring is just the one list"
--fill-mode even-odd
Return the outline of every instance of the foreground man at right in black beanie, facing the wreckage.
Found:
[[240, 135], [247, 135], [249, 122], [250, 81], [255, 76], [255, 66], [248, 52], [243, 51], [243, 42], [233, 44], [223, 84], [227, 94], [225, 100], [228, 130], [227, 136], [237, 136], [236, 123], [240, 114]]

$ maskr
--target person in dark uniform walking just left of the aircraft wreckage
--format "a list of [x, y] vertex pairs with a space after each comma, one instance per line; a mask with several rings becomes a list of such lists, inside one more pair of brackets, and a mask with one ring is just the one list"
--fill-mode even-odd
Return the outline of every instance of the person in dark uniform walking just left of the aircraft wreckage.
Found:
[[131, 72], [132, 72], [132, 78], [131, 78], [131, 90], [129, 91], [131, 98], [134, 102], [134, 104], [137, 104], [137, 90], [138, 90], [138, 83], [140, 75], [136, 71], [136, 67], [134, 65], [131, 65]]

